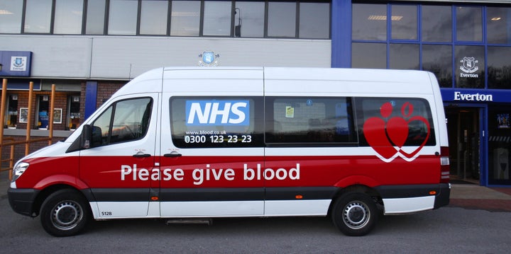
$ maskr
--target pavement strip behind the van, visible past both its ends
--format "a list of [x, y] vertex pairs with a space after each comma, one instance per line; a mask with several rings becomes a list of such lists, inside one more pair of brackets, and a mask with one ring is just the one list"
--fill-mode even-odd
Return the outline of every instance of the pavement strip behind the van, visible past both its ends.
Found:
[[[0, 199], [7, 198], [9, 174], [0, 172]], [[483, 209], [490, 212], [511, 212], [510, 187], [484, 187], [474, 183], [455, 183], [451, 187], [448, 207]]]

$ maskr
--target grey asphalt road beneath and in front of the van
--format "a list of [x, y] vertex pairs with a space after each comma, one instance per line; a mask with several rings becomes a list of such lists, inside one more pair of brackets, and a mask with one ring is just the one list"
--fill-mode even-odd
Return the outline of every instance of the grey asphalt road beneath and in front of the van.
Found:
[[509, 253], [511, 212], [443, 207], [380, 217], [368, 236], [342, 235], [325, 217], [214, 219], [203, 224], [94, 221], [55, 238], [0, 197], [0, 253]]

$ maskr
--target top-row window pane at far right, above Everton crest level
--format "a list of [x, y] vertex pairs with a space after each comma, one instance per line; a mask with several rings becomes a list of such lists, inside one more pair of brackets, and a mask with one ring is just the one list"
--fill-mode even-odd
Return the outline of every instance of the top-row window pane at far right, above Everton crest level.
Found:
[[486, 37], [489, 44], [511, 44], [511, 8], [486, 8]]

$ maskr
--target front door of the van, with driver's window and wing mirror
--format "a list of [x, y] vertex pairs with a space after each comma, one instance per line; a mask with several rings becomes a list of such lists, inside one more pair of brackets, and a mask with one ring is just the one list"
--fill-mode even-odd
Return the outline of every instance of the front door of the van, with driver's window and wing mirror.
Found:
[[91, 187], [94, 218], [147, 217], [151, 182], [158, 183], [155, 142], [158, 94], [121, 96], [90, 123], [79, 175]]

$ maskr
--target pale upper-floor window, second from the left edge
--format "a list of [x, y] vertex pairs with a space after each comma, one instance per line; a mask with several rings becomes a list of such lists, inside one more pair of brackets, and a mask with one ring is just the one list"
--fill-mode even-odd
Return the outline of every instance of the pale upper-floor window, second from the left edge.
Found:
[[52, 0], [26, 0], [24, 33], [50, 33]]

